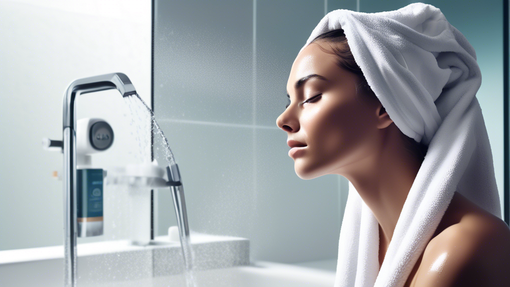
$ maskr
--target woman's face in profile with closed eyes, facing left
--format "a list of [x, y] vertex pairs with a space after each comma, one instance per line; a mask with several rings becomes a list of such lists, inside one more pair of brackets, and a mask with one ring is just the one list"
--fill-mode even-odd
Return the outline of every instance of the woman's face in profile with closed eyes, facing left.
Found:
[[[376, 136], [379, 101], [357, 96], [356, 75], [340, 68], [336, 56], [319, 45], [330, 49], [327, 43], [315, 42], [294, 60], [287, 82], [290, 105], [276, 119], [276, 125], [287, 132], [290, 146], [290, 140], [305, 145], [289, 152], [302, 179], [341, 174], [347, 166], [360, 168], [359, 163], [380, 146]], [[320, 77], [299, 81], [310, 75]], [[301, 84], [296, 87], [296, 82]]]

